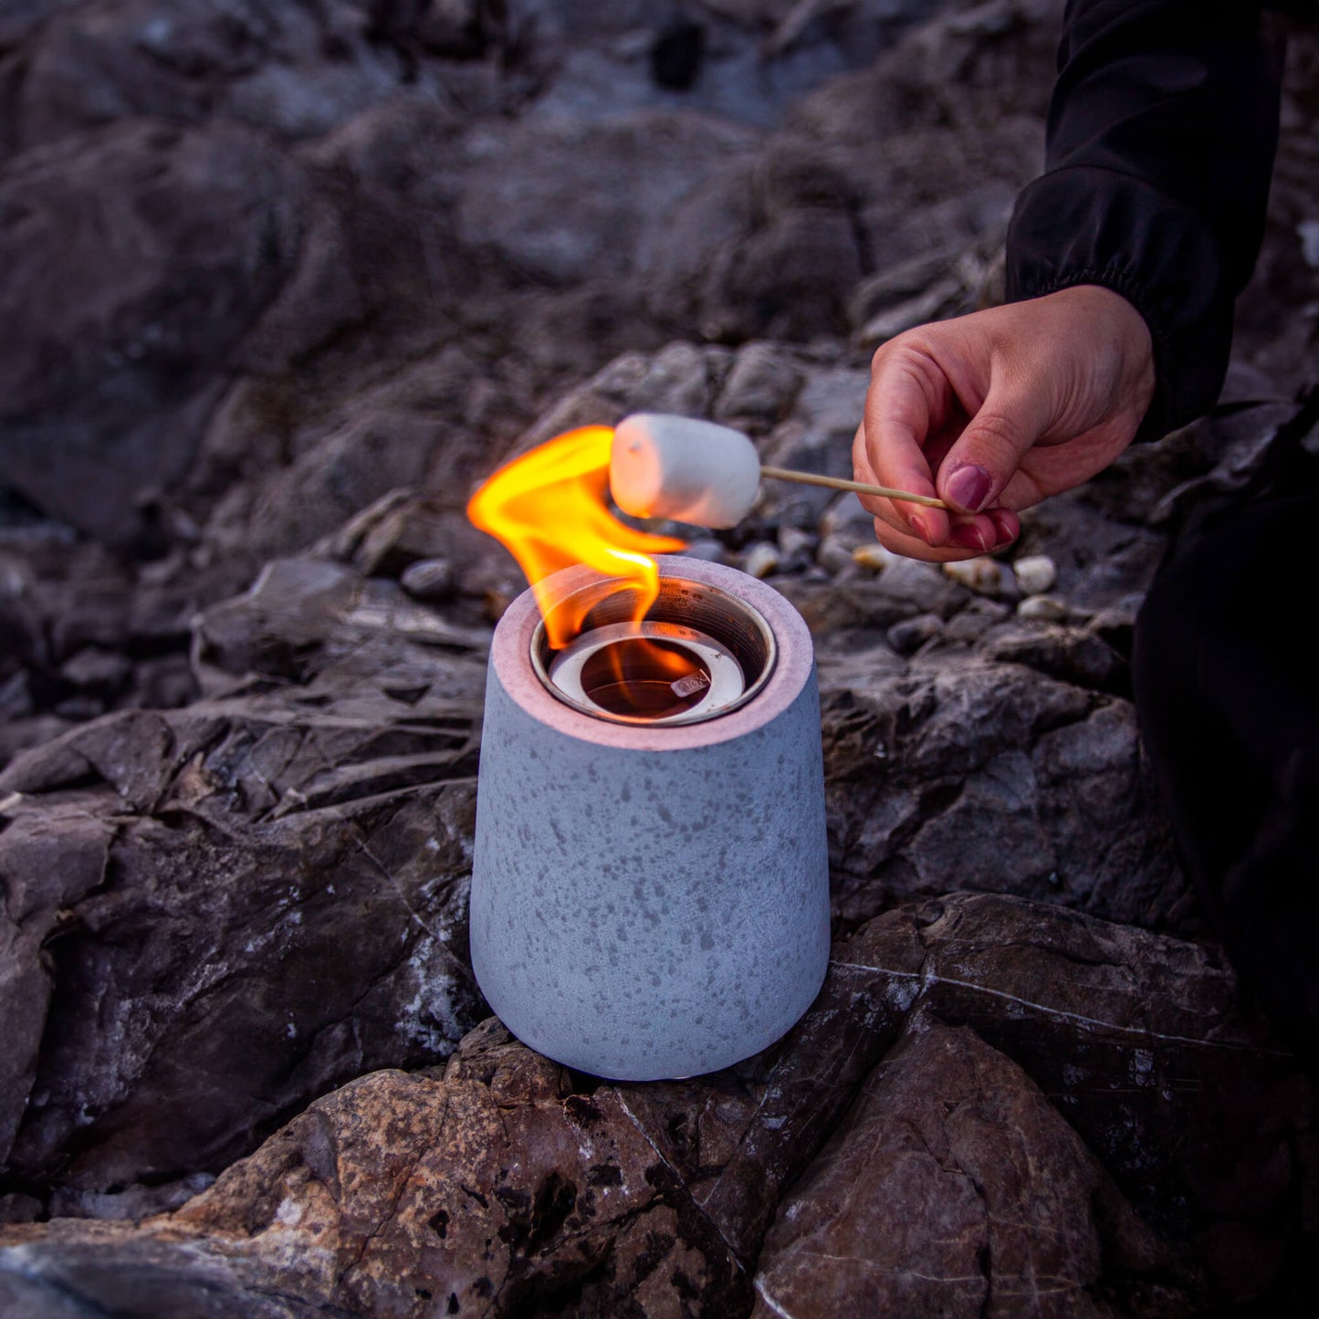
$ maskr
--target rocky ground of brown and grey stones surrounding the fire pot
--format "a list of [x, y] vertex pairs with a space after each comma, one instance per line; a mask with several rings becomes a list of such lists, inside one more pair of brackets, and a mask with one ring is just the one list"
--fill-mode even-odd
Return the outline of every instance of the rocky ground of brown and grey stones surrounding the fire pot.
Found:
[[803, 1022], [601, 1083], [467, 959], [520, 590], [472, 483], [642, 408], [845, 474], [869, 350], [996, 297], [1057, 20], [4, 7], [0, 1310], [1315, 1312], [1315, 1084], [1203, 926], [1128, 679], [1178, 518], [1311, 425], [1314, 34], [1215, 415], [956, 578], [807, 488], [692, 545], [816, 638]]

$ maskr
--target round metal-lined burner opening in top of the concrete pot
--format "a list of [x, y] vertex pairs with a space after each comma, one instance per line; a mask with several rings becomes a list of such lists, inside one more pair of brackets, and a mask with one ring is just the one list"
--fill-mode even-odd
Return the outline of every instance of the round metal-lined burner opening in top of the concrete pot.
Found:
[[554, 650], [545, 623], [532, 636], [532, 666], [565, 704], [628, 724], [689, 724], [728, 714], [769, 681], [774, 636], [761, 613], [727, 591], [661, 576], [645, 617], [634, 592], [603, 578], [551, 608], [583, 616], [578, 634]]

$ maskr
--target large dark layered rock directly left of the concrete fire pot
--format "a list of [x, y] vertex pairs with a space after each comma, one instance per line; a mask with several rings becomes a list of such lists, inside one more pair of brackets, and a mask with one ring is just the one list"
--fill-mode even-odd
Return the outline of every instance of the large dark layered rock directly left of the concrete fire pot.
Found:
[[[100, 1194], [218, 1173], [318, 1093], [452, 1049], [480, 1001], [484, 660], [431, 619], [392, 583], [276, 566], [199, 624], [230, 695], [108, 716], [0, 774], [21, 794], [0, 822], [13, 1174]], [[235, 694], [276, 670], [297, 685]]]

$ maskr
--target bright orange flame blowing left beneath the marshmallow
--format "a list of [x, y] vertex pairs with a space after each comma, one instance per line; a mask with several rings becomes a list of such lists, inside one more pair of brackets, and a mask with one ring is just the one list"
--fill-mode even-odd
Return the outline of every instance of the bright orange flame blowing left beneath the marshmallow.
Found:
[[582, 617], [551, 612], [555, 600], [542, 587], [545, 578], [574, 563], [623, 578], [636, 591], [640, 621], [660, 594], [652, 555], [686, 543], [638, 532], [609, 512], [612, 442], [611, 426], [565, 431], [506, 463], [467, 504], [472, 524], [503, 542], [526, 574], [555, 649], [576, 636]]

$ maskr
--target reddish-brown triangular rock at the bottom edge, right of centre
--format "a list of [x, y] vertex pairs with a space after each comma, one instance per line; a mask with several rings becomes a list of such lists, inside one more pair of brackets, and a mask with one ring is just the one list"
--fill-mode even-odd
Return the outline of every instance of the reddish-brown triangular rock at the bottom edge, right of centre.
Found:
[[[909, 1020], [780, 1208], [756, 1274], [760, 1319], [1130, 1314], [1171, 1252], [1030, 1078], [966, 1026]], [[1120, 1308], [1093, 1293], [1126, 1273]], [[1140, 1281], [1136, 1281], [1140, 1279]]]

